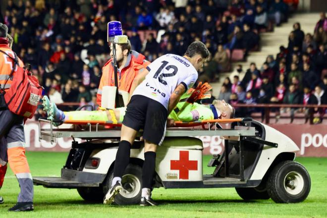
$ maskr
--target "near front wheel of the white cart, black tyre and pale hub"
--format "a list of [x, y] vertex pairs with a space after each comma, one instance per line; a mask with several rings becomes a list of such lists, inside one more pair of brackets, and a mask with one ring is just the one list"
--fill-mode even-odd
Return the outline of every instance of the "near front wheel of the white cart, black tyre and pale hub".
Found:
[[267, 182], [267, 191], [276, 203], [298, 203], [310, 192], [311, 180], [306, 168], [300, 163], [284, 161], [277, 164]]

